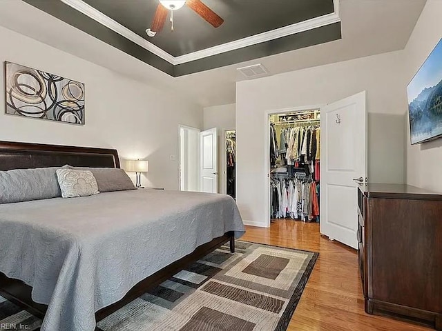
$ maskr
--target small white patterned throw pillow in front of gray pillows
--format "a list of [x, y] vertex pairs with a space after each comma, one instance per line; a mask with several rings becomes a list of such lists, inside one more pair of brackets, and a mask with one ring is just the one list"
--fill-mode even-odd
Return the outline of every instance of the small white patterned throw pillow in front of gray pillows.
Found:
[[97, 181], [88, 170], [58, 169], [57, 179], [61, 197], [77, 198], [98, 194]]

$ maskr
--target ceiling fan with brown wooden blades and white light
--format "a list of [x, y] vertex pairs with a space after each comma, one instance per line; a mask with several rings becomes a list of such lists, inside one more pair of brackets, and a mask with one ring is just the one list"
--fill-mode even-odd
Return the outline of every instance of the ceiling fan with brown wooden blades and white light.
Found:
[[171, 28], [173, 31], [173, 11], [182, 8], [182, 6], [188, 6], [196, 12], [202, 19], [210, 23], [214, 28], [218, 28], [224, 22], [224, 19], [215, 14], [213, 10], [204, 5], [200, 0], [160, 0], [158, 3], [157, 11], [153, 17], [151, 28], [146, 30], [149, 37], [155, 37], [157, 32], [160, 32], [166, 21], [168, 11], [171, 11]]

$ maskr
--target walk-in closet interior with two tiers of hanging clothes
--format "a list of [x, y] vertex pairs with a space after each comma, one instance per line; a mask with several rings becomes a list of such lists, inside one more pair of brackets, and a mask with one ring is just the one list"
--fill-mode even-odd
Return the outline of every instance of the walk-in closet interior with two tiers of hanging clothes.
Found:
[[319, 222], [320, 110], [269, 115], [270, 219]]

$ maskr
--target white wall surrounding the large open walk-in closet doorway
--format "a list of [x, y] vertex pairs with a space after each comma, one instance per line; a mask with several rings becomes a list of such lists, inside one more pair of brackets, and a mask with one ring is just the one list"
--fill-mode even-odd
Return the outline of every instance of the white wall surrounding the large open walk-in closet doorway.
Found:
[[404, 181], [403, 52], [278, 74], [236, 86], [237, 203], [249, 224], [265, 226], [265, 112], [331, 103], [367, 91], [369, 181]]

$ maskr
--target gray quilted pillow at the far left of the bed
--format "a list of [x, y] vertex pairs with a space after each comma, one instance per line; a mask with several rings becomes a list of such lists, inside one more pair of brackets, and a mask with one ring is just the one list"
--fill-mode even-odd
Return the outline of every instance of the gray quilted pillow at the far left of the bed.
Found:
[[0, 203], [61, 197], [57, 167], [0, 171]]

